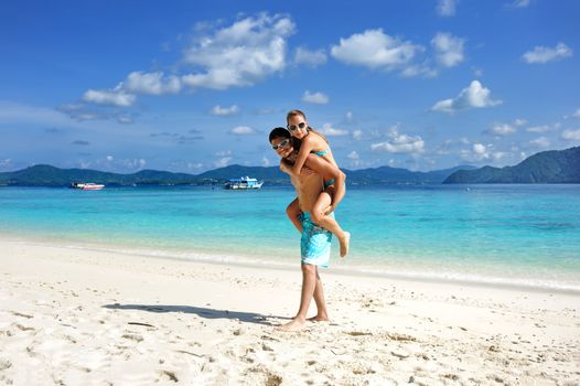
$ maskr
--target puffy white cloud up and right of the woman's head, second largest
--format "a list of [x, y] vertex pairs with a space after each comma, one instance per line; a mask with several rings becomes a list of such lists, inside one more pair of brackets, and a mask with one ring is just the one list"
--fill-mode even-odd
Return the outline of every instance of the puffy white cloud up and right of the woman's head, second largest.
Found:
[[339, 45], [331, 47], [331, 55], [346, 64], [393, 71], [409, 65], [415, 55], [423, 50], [420, 45], [402, 42], [377, 29], [341, 39]]

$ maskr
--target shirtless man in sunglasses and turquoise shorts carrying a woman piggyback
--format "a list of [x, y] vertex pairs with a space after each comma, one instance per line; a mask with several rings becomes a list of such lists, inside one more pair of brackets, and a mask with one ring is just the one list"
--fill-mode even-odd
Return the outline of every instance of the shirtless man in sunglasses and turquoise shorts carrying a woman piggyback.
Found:
[[[286, 160], [292, 162], [293, 157], [298, 153], [293, 148], [290, 132], [284, 128], [276, 128], [270, 132], [269, 139], [272, 149], [282, 158], [280, 169], [282, 169], [282, 171], [289, 170], [291, 163], [286, 165]], [[334, 202], [330, 202], [330, 196], [327, 202], [327, 206], [332, 204], [333, 207], [336, 207], [344, 196], [344, 181], [346, 175], [330, 162], [311, 154], [308, 157], [300, 174], [291, 180], [297, 191], [300, 211], [302, 212], [300, 218], [297, 218], [296, 222], [293, 221], [294, 226], [302, 234], [300, 243], [302, 256], [302, 292], [297, 315], [292, 321], [281, 325], [279, 328], [280, 330], [301, 330], [307, 322], [307, 313], [312, 298], [314, 298], [314, 302], [316, 303], [318, 312], [314, 318], [309, 320], [329, 320], [324, 291], [319, 275], [319, 266], [324, 268], [329, 266], [332, 234], [314, 224], [310, 216], [314, 203], [323, 191], [323, 179], [335, 179], [336, 186], [340, 186], [336, 189]]]

